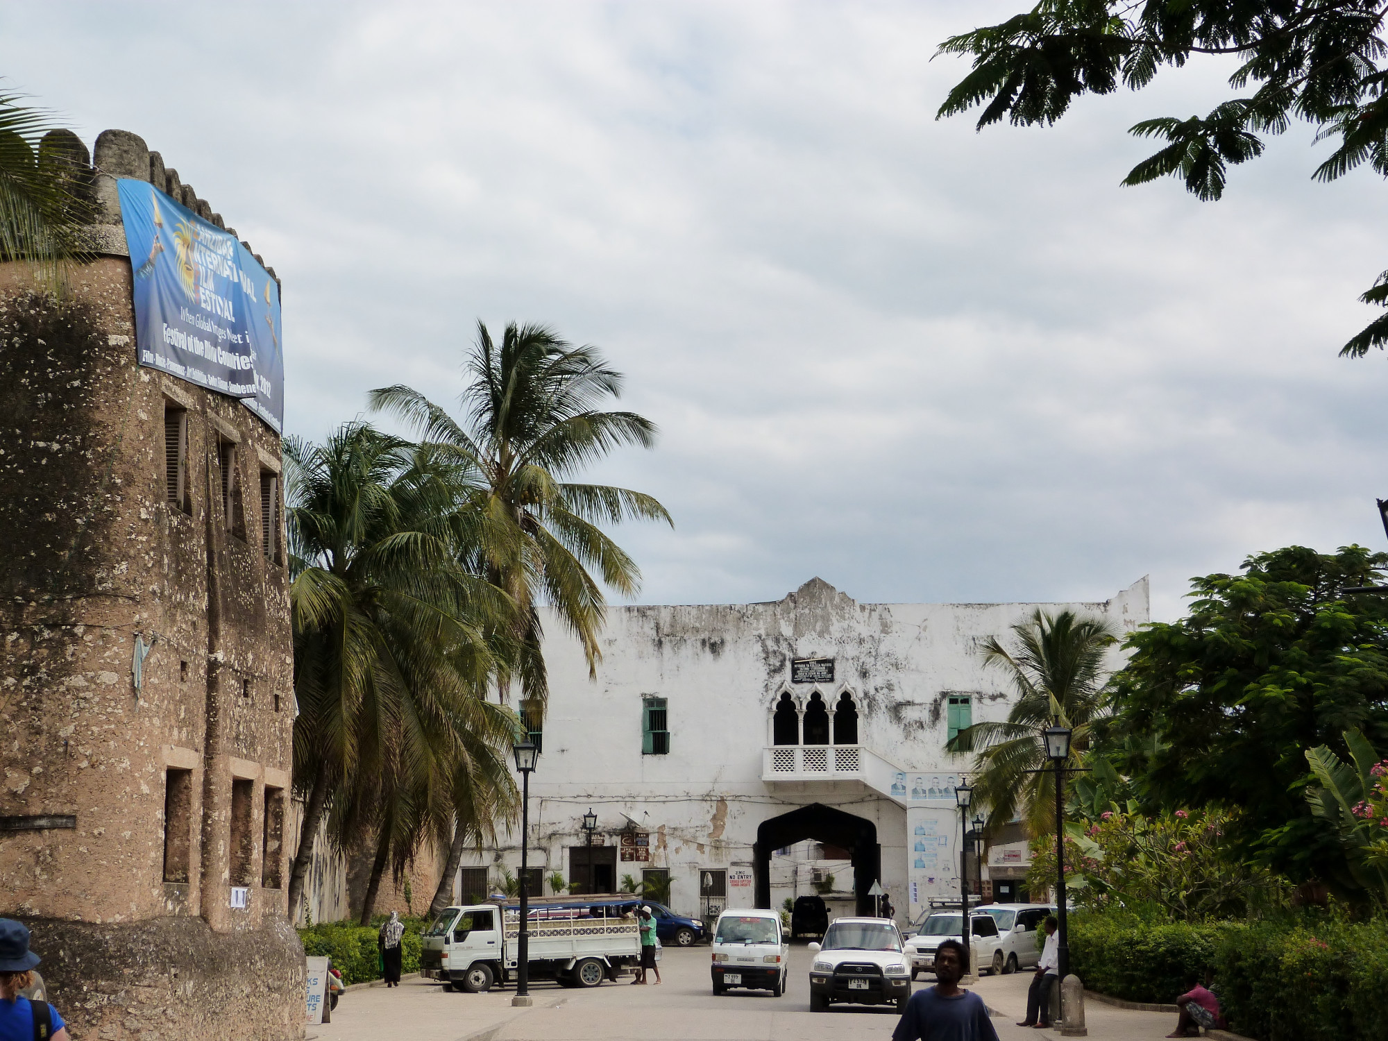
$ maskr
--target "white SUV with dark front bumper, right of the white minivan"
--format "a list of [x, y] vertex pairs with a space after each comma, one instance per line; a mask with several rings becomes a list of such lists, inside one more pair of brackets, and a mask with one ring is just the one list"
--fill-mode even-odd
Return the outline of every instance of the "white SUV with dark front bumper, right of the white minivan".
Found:
[[809, 1010], [824, 1012], [836, 1001], [895, 1005], [906, 1010], [911, 962], [901, 947], [897, 924], [886, 917], [841, 917], [811, 944]]

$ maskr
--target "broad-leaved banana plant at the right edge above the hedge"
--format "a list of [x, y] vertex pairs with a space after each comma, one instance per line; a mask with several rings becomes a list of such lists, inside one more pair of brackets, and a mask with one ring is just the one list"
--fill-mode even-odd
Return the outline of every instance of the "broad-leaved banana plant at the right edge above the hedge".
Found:
[[1356, 888], [1364, 890], [1381, 908], [1388, 906], [1388, 827], [1378, 813], [1366, 813], [1382, 804], [1381, 756], [1359, 730], [1345, 731], [1351, 762], [1327, 745], [1310, 748], [1306, 762], [1320, 781], [1306, 790], [1312, 813], [1339, 836], [1345, 867]]

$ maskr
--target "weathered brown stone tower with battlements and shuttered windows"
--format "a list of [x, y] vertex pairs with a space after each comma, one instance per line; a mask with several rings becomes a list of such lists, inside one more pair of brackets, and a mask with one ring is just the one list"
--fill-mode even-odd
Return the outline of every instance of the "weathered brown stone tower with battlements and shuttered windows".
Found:
[[46, 146], [99, 255], [62, 308], [0, 264], [0, 915], [75, 1038], [301, 1038], [280, 439], [136, 365], [115, 178], [222, 219], [132, 133]]

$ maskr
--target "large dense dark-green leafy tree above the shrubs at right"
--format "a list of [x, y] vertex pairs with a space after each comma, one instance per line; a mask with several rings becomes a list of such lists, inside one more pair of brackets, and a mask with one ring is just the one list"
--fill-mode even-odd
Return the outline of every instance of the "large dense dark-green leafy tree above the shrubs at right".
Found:
[[1388, 741], [1388, 605], [1344, 594], [1385, 562], [1359, 545], [1258, 554], [1241, 575], [1194, 579], [1187, 618], [1128, 637], [1103, 743], [1128, 741], [1123, 772], [1148, 806], [1238, 808], [1228, 837], [1244, 855], [1295, 881], [1337, 874], [1305, 754], [1344, 751], [1353, 727]]

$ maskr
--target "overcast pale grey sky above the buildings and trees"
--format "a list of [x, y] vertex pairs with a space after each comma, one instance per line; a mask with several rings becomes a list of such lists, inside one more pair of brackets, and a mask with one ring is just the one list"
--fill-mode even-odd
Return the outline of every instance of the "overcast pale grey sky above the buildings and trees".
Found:
[[1385, 358], [1338, 347], [1388, 186], [1296, 126], [1226, 198], [1119, 182], [1126, 128], [937, 122], [945, 36], [1026, 0], [0, 3], [0, 74], [142, 135], [283, 279], [286, 425], [440, 403], [480, 318], [547, 322], [659, 423], [591, 479], [641, 602], [1102, 600], [1289, 543], [1384, 547]]

